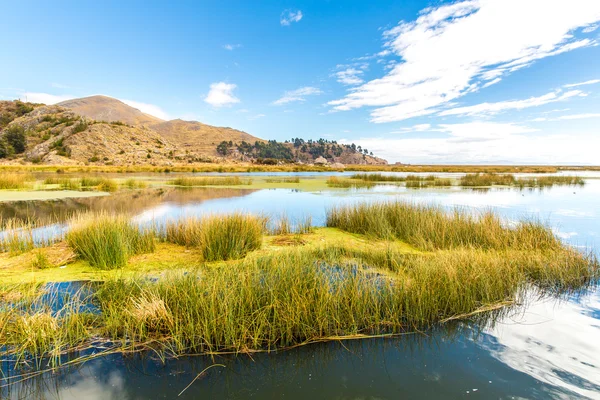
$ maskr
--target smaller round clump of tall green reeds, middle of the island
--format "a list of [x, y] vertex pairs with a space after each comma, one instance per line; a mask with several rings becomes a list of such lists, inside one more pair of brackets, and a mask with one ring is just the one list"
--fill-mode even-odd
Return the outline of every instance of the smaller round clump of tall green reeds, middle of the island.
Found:
[[234, 213], [169, 222], [165, 240], [200, 249], [205, 261], [244, 257], [260, 248], [266, 220]]

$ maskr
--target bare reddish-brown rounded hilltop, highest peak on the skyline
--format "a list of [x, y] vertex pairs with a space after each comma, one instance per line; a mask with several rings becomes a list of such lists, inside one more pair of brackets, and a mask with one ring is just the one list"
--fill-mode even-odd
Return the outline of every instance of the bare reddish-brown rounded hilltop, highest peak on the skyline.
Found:
[[57, 105], [68, 108], [77, 115], [96, 121], [120, 121], [125, 124], [137, 126], [148, 126], [163, 121], [160, 118], [145, 114], [137, 108], [128, 106], [120, 100], [107, 96], [82, 97], [80, 99], [63, 101]]

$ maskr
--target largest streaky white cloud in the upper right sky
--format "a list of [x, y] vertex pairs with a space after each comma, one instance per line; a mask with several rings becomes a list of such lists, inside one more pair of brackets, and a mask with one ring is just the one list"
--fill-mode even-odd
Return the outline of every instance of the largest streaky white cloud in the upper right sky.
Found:
[[374, 107], [376, 123], [432, 114], [538, 59], [595, 45], [573, 32], [599, 20], [597, 0], [468, 0], [428, 8], [384, 33], [386, 49], [402, 62], [329, 105]]

